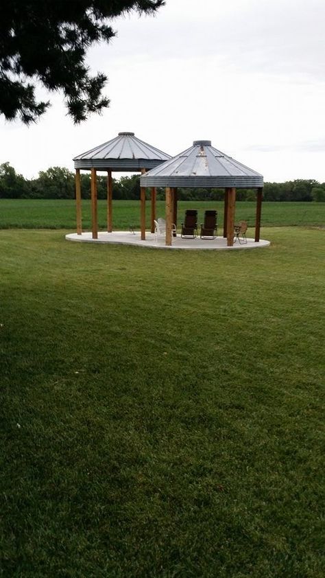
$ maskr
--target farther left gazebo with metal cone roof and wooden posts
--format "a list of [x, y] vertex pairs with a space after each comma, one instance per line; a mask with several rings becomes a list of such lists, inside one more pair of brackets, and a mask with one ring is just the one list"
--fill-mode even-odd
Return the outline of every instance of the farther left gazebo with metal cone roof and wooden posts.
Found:
[[[107, 231], [112, 232], [112, 171], [145, 172], [157, 167], [170, 154], [141, 141], [134, 132], [119, 135], [73, 159], [75, 163], [75, 199], [77, 205], [77, 235], [82, 235], [82, 206], [80, 170], [91, 170], [91, 221], [92, 237], [98, 238], [97, 220], [97, 170], [107, 171]], [[156, 207], [156, 189], [152, 187], [152, 229]], [[145, 189], [141, 189], [141, 231], [145, 231]]]

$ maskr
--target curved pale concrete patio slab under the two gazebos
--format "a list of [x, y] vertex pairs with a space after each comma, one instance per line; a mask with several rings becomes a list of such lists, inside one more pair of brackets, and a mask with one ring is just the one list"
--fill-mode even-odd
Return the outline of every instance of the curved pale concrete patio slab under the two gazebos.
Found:
[[180, 235], [174, 237], [171, 246], [165, 245], [165, 238], [156, 239], [154, 233], [145, 233], [145, 241], [141, 241], [141, 234], [139, 231], [114, 231], [112, 233], [100, 232], [98, 233], [98, 239], [92, 238], [92, 233], [86, 232], [81, 235], [77, 233], [69, 233], [65, 238], [68, 241], [76, 241], [81, 243], [112, 243], [112, 244], [122, 244], [122, 245], [136, 245], [141, 247], [149, 248], [160, 248], [160, 249], [214, 249], [237, 251], [237, 249], [252, 249], [269, 246], [270, 242], [261, 239], [255, 242], [254, 239], [248, 238], [246, 244], [239, 244], [237, 241], [232, 247], [227, 246], [227, 240], [224, 237], [217, 237], [215, 239], [200, 239], [197, 237], [195, 239], [182, 239]]

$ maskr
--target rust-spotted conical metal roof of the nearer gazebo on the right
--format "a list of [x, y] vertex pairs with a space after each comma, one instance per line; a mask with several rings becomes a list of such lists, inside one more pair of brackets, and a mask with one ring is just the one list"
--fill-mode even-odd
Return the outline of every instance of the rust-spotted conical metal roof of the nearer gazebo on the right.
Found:
[[141, 176], [141, 187], [263, 187], [263, 176], [211, 146], [193, 146]]

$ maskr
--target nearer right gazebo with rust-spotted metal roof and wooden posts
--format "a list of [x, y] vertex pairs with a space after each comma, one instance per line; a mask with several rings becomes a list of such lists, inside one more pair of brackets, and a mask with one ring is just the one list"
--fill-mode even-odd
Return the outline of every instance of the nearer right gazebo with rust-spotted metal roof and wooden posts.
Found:
[[[166, 188], [166, 237], [171, 246], [171, 225], [177, 225], [177, 187], [225, 189], [224, 238], [234, 243], [236, 189], [256, 189], [255, 242], [260, 240], [263, 176], [211, 146], [211, 141], [194, 141], [176, 157], [141, 175], [142, 187]], [[141, 195], [143, 196], [143, 192]], [[141, 238], [145, 238], [141, 229]]]

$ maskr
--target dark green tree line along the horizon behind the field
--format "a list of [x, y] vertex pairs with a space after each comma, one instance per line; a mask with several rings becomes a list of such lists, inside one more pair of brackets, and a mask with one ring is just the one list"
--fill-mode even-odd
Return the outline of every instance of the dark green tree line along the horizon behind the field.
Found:
[[[91, 196], [89, 173], [81, 175], [82, 198]], [[97, 174], [99, 199], [107, 196], [107, 178]], [[112, 179], [114, 199], [138, 200], [140, 198], [140, 175], [121, 176]], [[314, 179], [301, 179], [285, 183], [264, 183], [264, 200], [269, 201], [316, 201], [325, 203], [325, 183]], [[40, 171], [38, 177], [27, 179], [16, 173], [10, 163], [0, 165], [0, 198], [75, 198], [75, 175], [65, 167], [50, 167]], [[157, 198], [165, 198], [164, 189], [157, 189]], [[178, 188], [180, 200], [223, 200], [224, 189]], [[237, 189], [237, 200], [254, 200], [256, 191]]]

